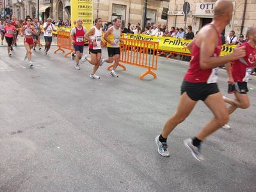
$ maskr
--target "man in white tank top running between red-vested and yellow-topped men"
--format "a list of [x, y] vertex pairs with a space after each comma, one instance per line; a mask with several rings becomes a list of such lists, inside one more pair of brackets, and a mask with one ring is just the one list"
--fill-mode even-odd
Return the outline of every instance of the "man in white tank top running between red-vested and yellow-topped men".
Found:
[[86, 33], [84, 38], [89, 41], [89, 52], [91, 55], [91, 58], [89, 58], [88, 54], [85, 54], [82, 58], [82, 61], [88, 61], [93, 67], [92, 74], [90, 74], [90, 77], [92, 79], [100, 79], [99, 76], [97, 76], [95, 73], [97, 72], [99, 66], [102, 65], [101, 60], [101, 38], [102, 38], [102, 19], [97, 18], [95, 19], [95, 26], [93, 26], [90, 31]]

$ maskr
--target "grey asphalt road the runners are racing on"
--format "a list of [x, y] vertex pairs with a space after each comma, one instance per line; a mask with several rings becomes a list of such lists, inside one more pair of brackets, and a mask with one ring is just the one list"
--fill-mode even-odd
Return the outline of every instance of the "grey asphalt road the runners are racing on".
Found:
[[[157, 79], [127, 66], [99, 80], [59, 52], [33, 52], [35, 67], [0, 47], [0, 191], [256, 191], [256, 78], [248, 83], [251, 107], [215, 132], [196, 161], [183, 140], [212, 118], [203, 102], [168, 139], [170, 157], [154, 139], [177, 107], [188, 63], [159, 58]], [[106, 56], [106, 50], [103, 51]], [[221, 92], [227, 95], [220, 71]]]

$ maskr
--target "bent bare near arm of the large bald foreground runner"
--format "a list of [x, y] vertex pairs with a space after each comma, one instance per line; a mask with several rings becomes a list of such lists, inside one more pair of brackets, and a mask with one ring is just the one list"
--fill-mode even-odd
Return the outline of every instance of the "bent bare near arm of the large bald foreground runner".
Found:
[[202, 31], [203, 34], [200, 33], [197, 37], [198, 41], [196, 41], [196, 44], [200, 47], [200, 67], [202, 69], [216, 68], [246, 56], [244, 46], [234, 49], [234, 52], [227, 56], [214, 56], [218, 36], [216, 33], [213, 35], [212, 30], [211, 28], [205, 29]]

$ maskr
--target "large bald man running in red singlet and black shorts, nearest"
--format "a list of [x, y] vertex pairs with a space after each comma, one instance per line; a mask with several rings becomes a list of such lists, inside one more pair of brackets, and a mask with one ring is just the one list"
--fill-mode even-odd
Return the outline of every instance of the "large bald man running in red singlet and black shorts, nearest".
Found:
[[211, 24], [204, 26], [189, 46], [192, 52], [190, 67], [181, 86], [181, 97], [177, 111], [164, 125], [162, 133], [156, 137], [157, 150], [161, 156], [170, 156], [166, 140], [170, 132], [191, 113], [198, 100], [204, 101], [214, 118], [194, 137], [184, 140], [184, 144], [198, 161], [204, 160], [200, 144], [221, 125], [228, 122], [228, 111], [217, 85], [217, 68], [232, 60], [245, 56], [244, 47], [239, 47], [227, 56], [221, 52], [221, 31], [232, 18], [233, 5], [228, 0], [218, 0], [214, 8]]

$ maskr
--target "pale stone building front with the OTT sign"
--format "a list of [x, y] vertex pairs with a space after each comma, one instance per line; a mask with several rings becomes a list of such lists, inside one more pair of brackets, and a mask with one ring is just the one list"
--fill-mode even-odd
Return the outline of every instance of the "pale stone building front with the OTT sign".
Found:
[[[202, 26], [212, 21], [216, 1], [188, 0], [188, 2], [190, 4], [190, 12], [188, 13], [186, 26], [192, 26], [193, 31], [196, 32], [202, 28]], [[256, 26], [256, 0], [247, 0], [246, 4], [244, 4], [244, 0], [232, 2], [234, 5], [232, 20], [230, 24], [226, 26], [223, 33], [227, 36], [230, 30], [234, 30], [236, 35], [245, 35], [246, 30], [250, 26]], [[170, 0], [170, 12], [168, 15], [169, 26], [185, 28], [184, 15], [182, 15], [183, 4], [184, 1], [181, 0]], [[245, 13], [244, 8], [246, 9]]]

